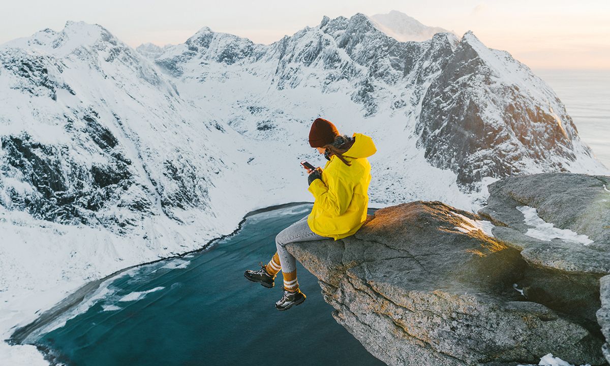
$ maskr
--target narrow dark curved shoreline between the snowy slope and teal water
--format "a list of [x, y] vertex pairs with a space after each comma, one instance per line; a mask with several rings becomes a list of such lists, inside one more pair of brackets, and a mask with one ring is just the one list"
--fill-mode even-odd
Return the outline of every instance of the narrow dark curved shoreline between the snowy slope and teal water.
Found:
[[[78, 289], [76, 289], [73, 293], [71, 293], [70, 295], [63, 298], [63, 300], [59, 301], [59, 303], [56, 303], [50, 309], [42, 312], [34, 321], [31, 321], [27, 325], [24, 325], [24, 326], [21, 326], [20, 328], [15, 329], [15, 331], [13, 331], [12, 334], [10, 335], [9, 339], [4, 340], [4, 342], [8, 343], [11, 346], [31, 344], [31, 343], [24, 343], [24, 341], [27, 339], [27, 337], [30, 336], [30, 334], [34, 333], [38, 329], [45, 327], [46, 325], [51, 323], [51, 321], [55, 320], [59, 315], [65, 313], [66, 311], [70, 310], [74, 306], [77, 306], [78, 304], [80, 304], [85, 299], [87, 294], [97, 290], [99, 288], [99, 285], [101, 285], [103, 282], [105, 282], [115, 276], [118, 276], [119, 274], [121, 274], [127, 270], [131, 270], [132, 268], [137, 268], [137, 267], [140, 267], [143, 265], [154, 264], [157, 262], [161, 262], [163, 260], [183, 257], [188, 254], [204, 252], [207, 249], [209, 249], [210, 247], [212, 247], [212, 245], [215, 242], [226, 239], [227, 237], [230, 237], [231, 235], [234, 235], [235, 233], [240, 231], [242, 229], [243, 223], [245, 223], [245, 221], [248, 217], [257, 215], [258, 213], [284, 209], [284, 208], [292, 207], [292, 206], [300, 206], [300, 205], [304, 205], [304, 204], [312, 204], [312, 203], [304, 202], [304, 201], [303, 202], [291, 202], [291, 203], [278, 204], [278, 205], [263, 207], [262, 209], [256, 209], [253, 211], [249, 211], [243, 216], [242, 220], [237, 224], [237, 228], [235, 228], [234, 231], [232, 231], [229, 234], [221, 235], [220, 237], [210, 239], [201, 248], [198, 248], [198, 249], [195, 249], [192, 251], [187, 251], [187, 252], [178, 254], [176, 256], [163, 257], [163, 258], [159, 258], [156, 260], [151, 260], [149, 262], [143, 262], [143, 263], [140, 263], [137, 265], [125, 267], [125, 268], [122, 268], [121, 270], [115, 271], [107, 276], [104, 276], [104, 278], [100, 278], [100, 279], [96, 279], [94, 281], [87, 282], [86, 284], [84, 284], [81, 287], [79, 287]], [[43, 354], [43, 357], [45, 357], [45, 359], [46, 359], [46, 356], [47, 356], [49, 350], [44, 350], [44, 349], [40, 348], [40, 346], [35, 345], [35, 344], [33, 344], [33, 345], [36, 346], [38, 351], [40, 351], [41, 354]], [[49, 360], [47, 360], [47, 361], [49, 361]]]

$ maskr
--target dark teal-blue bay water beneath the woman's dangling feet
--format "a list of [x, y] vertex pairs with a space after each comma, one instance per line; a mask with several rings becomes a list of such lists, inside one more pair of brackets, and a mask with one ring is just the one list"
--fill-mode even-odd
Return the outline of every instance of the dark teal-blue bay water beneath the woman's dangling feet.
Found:
[[36, 343], [72, 366], [384, 365], [332, 318], [301, 264], [307, 300], [285, 312], [274, 307], [281, 273], [273, 289], [243, 277], [270, 259], [275, 235], [310, 207], [253, 215], [207, 251], [120, 274]]

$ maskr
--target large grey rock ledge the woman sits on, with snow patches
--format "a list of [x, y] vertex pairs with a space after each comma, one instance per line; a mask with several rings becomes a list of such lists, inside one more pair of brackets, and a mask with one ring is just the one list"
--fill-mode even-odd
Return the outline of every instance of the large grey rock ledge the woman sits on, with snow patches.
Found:
[[351, 237], [288, 248], [337, 322], [389, 365], [537, 364], [548, 353], [606, 365], [608, 187], [608, 176], [511, 177], [489, 185], [479, 215], [405, 203]]

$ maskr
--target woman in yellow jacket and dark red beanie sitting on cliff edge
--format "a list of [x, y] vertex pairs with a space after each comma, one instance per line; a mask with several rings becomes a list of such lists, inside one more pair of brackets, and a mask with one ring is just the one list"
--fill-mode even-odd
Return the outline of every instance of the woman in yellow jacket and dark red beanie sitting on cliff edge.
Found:
[[317, 118], [309, 131], [309, 145], [324, 154], [324, 169], [307, 169], [309, 192], [314, 207], [306, 217], [285, 228], [275, 238], [278, 249], [268, 264], [260, 262], [260, 270], [246, 270], [247, 279], [271, 288], [280, 270], [284, 274], [284, 295], [275, 303], [278, 310], [290, 309], [305, 301], [296, 280], [296, 259], [285, 248], [292, 242], [339, 240], [353, 235], [367, 218], [368, 184], [371, 166], [367, 157], [377, 149], [367, 135], [341, 135], [330, 121]]

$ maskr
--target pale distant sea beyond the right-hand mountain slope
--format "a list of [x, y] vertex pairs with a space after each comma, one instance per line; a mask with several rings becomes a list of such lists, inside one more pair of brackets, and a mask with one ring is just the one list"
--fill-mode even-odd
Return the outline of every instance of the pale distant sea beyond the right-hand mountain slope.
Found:
[[610, 168], [610, 70], [534, 70], [565, 104], [578, 134]]

